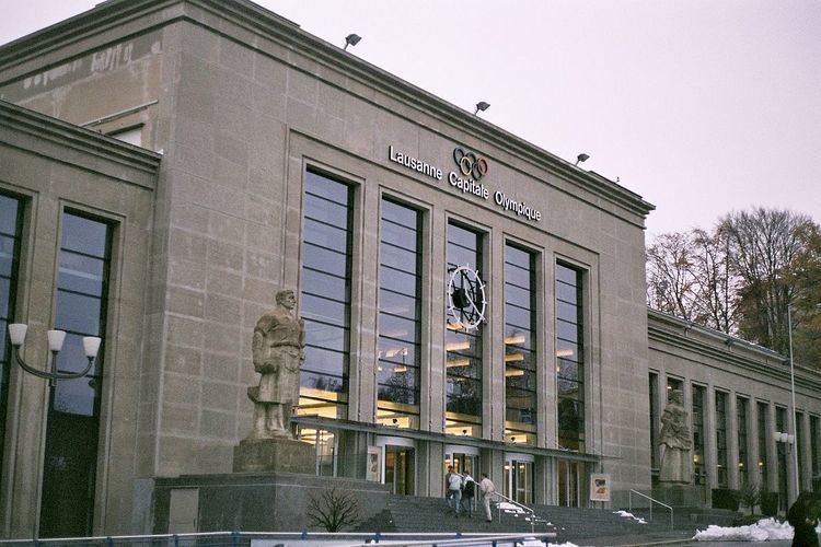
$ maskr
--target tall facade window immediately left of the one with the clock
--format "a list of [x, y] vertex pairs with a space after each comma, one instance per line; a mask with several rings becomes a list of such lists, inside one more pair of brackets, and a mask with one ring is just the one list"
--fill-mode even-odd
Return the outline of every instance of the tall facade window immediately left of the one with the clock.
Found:
[[418, 429], [421, 212], [382, 199], [379, 257], [377, 419]]

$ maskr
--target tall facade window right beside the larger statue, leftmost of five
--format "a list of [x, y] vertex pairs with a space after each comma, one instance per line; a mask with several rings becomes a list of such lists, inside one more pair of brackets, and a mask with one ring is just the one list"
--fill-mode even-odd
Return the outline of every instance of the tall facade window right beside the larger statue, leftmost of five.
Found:
[[304, 198], [299, 414], [347, 418], [354, 189], [309, 171]]

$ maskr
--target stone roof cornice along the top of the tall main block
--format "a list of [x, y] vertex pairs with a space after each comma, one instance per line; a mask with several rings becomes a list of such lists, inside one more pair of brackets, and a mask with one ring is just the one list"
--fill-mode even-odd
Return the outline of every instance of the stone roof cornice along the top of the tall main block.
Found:
[[[184, 9], [180, 9], [186, 4], [206, 10], [287, 49], [305, 55], [324, 68], [344, 73], [360, 84], [375, 88], [396, 101], [420, 109], [458, 130], [472, 133], [476, 139], [487, 141], [629, 213], [645, 218], [655, 209], [651, 203], [623, 186], [578, 168], [551, 152], [302, 31], [293, 22], [247, 0], [109, 0], [0, 47], [0, 72], [8, 73], [35, 58], [161, 10], [167, 12], [163, 24], [190, 19]], [[201, 24], [199, 21], [192, 21]], [[287, 59], [282, 60], [288, 62]]]

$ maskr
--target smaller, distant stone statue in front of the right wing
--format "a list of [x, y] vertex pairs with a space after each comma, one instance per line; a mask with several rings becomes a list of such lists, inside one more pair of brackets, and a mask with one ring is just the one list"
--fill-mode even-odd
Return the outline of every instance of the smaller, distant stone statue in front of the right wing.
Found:
[[687, 411], [682, 404], [683, 398], [681, 389], [673, 391], [670, 403], [661, 415], [659, 482], [675, 485], [691, 482], [690, 450], [693, 441], [690, 438]]

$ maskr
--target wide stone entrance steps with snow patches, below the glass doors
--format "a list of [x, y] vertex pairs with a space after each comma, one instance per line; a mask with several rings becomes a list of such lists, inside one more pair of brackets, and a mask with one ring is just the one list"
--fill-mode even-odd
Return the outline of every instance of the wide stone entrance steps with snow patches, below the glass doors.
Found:
[[[477, 500], [478, 501], [478, 500]], [[531, 524], [529, 513], [517, 511], [514, 505], [502, 504], [501, 517], [496, 504], [493, 508], [493, 522], [485, 522], [484, 509], [477, 503], [473, 517], [464, 513], [456, 517], [442, 498], [417, 498], [410, 496], [389, 496], [388, 508], [374, 517], [361, 523], [356, 532], [404, 532], [404, 533], [521, 533], [539, 536], [555, 533], [554, 543], [575, 542], [588, 537], [608, 535], [643, 536], [667, 533], [670, 519], [667, 514], [654, 511], [654, 522], [639, 523], [635, 519], [620, 516], [611, 509], [578, 509], [556, 505], [530, 505], [536, 519]], [[635, 514], [635, 513], [634, 513]], [[641, 515], [636, 514], [637, 517]], [[675, 528], [694, 532], [697, 524], [689, 514], [675, 519]]]

